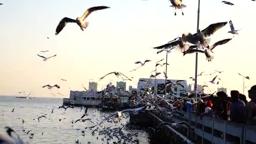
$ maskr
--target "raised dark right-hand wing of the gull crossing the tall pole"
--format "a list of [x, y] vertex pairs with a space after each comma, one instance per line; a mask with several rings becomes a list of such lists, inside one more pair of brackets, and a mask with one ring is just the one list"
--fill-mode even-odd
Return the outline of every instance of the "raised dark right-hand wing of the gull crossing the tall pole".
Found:
[[209, 37], [209, 36], [213, 35], [214, 32], [216, 32], [220, 28], [224, 27], [226, 24], [227, 24], [227, 21], [210, 24], [208, 27], [206, 27], [205, 29], [202, 30], [202, 33], [205, 37]]

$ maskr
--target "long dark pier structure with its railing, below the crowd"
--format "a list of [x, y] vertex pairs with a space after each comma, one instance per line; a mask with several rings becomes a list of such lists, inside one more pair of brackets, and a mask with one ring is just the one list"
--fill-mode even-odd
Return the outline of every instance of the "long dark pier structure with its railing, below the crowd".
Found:
[[159, 144], [256, 144], [256, 126], [182, 113], [183, 116], [175, 113], [166, 116], [142, 112], [130, 115], [130, 121], [152, 128], [157, 128], [162, 122], [185, 121], [192, 128], [190, 131], [186, 128], [164, 125], [160, 131], [155, 132], [155, 139]]

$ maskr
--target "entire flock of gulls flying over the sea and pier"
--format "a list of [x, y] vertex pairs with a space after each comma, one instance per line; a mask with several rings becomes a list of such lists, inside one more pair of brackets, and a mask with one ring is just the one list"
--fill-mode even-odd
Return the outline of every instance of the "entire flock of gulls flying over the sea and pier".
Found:
[[[252, 0], [252, 1], [255, 1], [255, 0]], [[172, 4], [171, 7], [175, 8], [175, 13], [174, 13], [175, 16], [176, 16], [176, 9], [181, 9], [181, 13], [182, 13], [182, 15], [184, 15], [184, 13], [182, 11], [182, 8], [185, 8], [187, 6], [182, 3], [182, 0], [170, 0], [170, 2]], [[228, 2], [228, 1], [222, 1], [222, 3], [225, 3], [227, 5], [234, 5], [233, 3]], [[0, 5], [3, 5], [3, 3], [0, 3]], [[59, 22], [58, 26], [56, 27], [55, 35], [59, 35], [59, 33], [64, 29], [64, 27], [66, 26], [67, 23], [76, 23], [80, 27], [80, 29], [82, 31], [84, 31], [84, 29], [86, 29], [88, 27], [88, 24], [89, 24], [88, 22], [85, 21], [85, 19], [92, 12], [98, 11], [98, 10], [104, 10], [104, 9], [108, 9], [108, 8], [110, 8], [110, 7], [108, 7], [108, 6], [95, 6], [95, 7], [88, 8], [87, 11], [85, 11], [85, 13], [83, 13], [83, 16], [77, 17], [76, 19], [71, 19], [71, 18], [68, 18], [68, 17], [64, 17], [63, 19], [61, 19], [61, 21]], [[167, 51], [168, 53], [170, 53], [171, 50], [173, 50], [174, 48], [180, 50], [183, 53], [183, 56], [186, 55], [186, 54], [196, 53], [196, 52], [204, 53], [205, 56], [206, 56], [206, 59], [208, 61], [211, 61], [213, 59], [213, 57], [214, 57], [213, 56], [213, 49], [214, 48], [216, 48], [219, 45], [224, 45], [224, 44], [228, 43], [230, 40], [232, 40], [232, 38], [235, 35], [238, 35], [237, 31], [239, 31], [240, 29], [236, 30], [234, 25], [233, 25], [233, 23], [232, 23], [232, 21], [229, 20], [230, 31], [228, 33], [233, 34], [233, 37], [232, 38], [227, 38], [227, 39], [224, 39], [224, 40], [219, 40], [218, 42], [214, 43], [213, 45], [211, 45], [211, 46], [209, 45], [209, 43], [210, 43], [210, 38], [209, 37], [212, 36], [217, 30], [219, 30], [222, 27], [224, 27], [227, 23], [228, 22], [225, 21], [225, 22], [218, 22], [218, 23], [215, 23], [215, 24], [210, 24], [208, 27], [206, 27], [202, 31], [199, 29], [197, 31], [197, 33], [195, 33], [195, 34], [184, 33], [184, 34], [182, 34], [181, 37], [177, 37], [177, 38], [175, 38], [174, 40], [172, 40], [171, 42], [169, 42], [167, 44], [154, 47], [154, 49], [158, 49], [159, 50], [159, 51], [157, 51], [157, 54], [161, 53], [163, 51]], [[47, 38], [49, 39], [49, 37], [47, 37]], [[40, 51], [40, 52], [45, 53], [45, 52], [49, 52], [49, 51]], [[39, 55], [39, 54], [37, 54], [37, 55], [39, 57], [43, 58], [43, 61], [47, 61], [48, 59], [51, 59], [51, 58], [57, 56], [56, 54], [53, 55], [53, 56], [49, 56], [49, 57], [42, 56], [42, 55]], [[160, 60], [160, 61], [162, 61], [162, 60]], [[135, 64], [139, 64], [139, 67], [137, 67], [136, 69], [139, 69], [140, 67], [144, 66], [147, 62], [150, 62], [150, 61], [151, 60], [148, 60], [148, 59], [145, 60], [144, 62], [136, 61]], [[163, 66], [163, 65], [169, 65], [167, 63], [158, 64], [158, 62], [160, 62], [160, 61], [157, 61], [155, 67]], [[131, 71], [135, 71], [136, 69], [133, 69]], [[221, 71], [221, 72], [216, 71], [216, 72], [218, 72], [220, 74], [223, 71]], [[106, 77], [107, 75], [110, 75], [110, 74], [114, 74], [117, 77], [122, 77], [123, 79], [125, 77], [127, 80], [132, 80], [132, 78], [127, 77], [122, 72], [109, 72], [108, 74], [104, 75], [103, 77], [100, 77], [99, 80], [102, 80], [104, 77]], [[157, 77], [157, 75], [160, 75], [160, 74], [161, 74], [160, 72], [156, 72], [155, 75], [151, 75], [150, 77]], [[209, 74], [209, 75], [212, 75], [212, 74]], [[167, 78], [167, 74], [164, 73], [164, 75]], [[198, 75], [198, 76], [202, 76], [202, 75], [203, 75], [203, 72], [201, 72], [200, 75]], [[215, 84], [217, 76], [218, 75], [213, 77], [213, 79], [210, 80], [209, 82]], [[245, 77], [245, 78], [249, 79], [248, 76]], [[190, 79], [195, 80], [195, 78], [193, 78], [193, 77], [190, 77]], [[61, 81], [67, 81], [67, 80], [61, 79]], [[167, 81], [167, 83], [165, 83], [165, 85], [170, 85], [170, 84], [174, 84], [174, 83], [172, 81]], [[219, 84], [219, 82], [217, 82], [217, 84]], [[181, 84], [179, 82], [176, 82], [175, 85], [181, 85]], [[183, 85], [181, 85], [181, 86], [183, 86]], [[57, 84], [56, 85], [44, 85], [43, 86], [43, 88], [48, 88], [49, 90], [51, 90], [53, 87], [56, 87], [58, 89], [60, 88], [60, 86], [57, 85]], [[83, 88], [85, 88], [85, 87], [83, 87]], [[165, 101], [169, 105], [168, 108], [175, 109], [175, 107], [173, 105], [174, 105], [174, 103], [176, 103], [176, 101], [166, 100], [163, 97], [158, 96], [157, 93], [155, 93], [154, 91], [151, 91], [151, 89], [147, 90], [147, 93], [149, 93], [149, 92], [153, 93], [153, 95], [155, 94], [157, 96], [157, 99], [162, 99], [163, 101]], [[24, 93], [24, 92], [18, 92], [18, 93]], [[32, 98], [29, 97], [30, 95], [31, 95], [31, 93], [29, 93], [27, 96], [19, 96], [17, 98], [20, 98], [20, 99], [32, 99]], [[173, 94], [173, 96], [176, 96], [176, 95]], [[182, 97], [182, 96], [176, 96], [176, 98], [189, 99], [187, 97]], [[139, 102], [141, 102], [141, 100]], [[171, 102], [173, 102], [173, 103], [171, 104]], [[94, 135], [95, 131], [98, 130], [98, 128], [101, 126], [101, 124], [104, 121], [109, 120], [111, 117], [113, 117], [113, 116], [117, 117], [118, 118], [117, 120], [120, 122], [120, 120], [121, 120], [120, 117], [122, 116], [123, 113], [127, 113], [127, 112], [141, 112], [143, 110], [157, 109], [157, 110], [160, 110], [162, 112], [165, 112], [165, 113], [169, 114], [169, 112], [163, 111], [162, 108], [160, 108], [157, 104], [151, 104], [151, 103], [149, 103], [149, 101], [143, 101], [143, 104], [144, 104], [143, 107], [139, 107], [139, 108], [135, 108], [135, 109], [125, 109], [125, 110], [122, 110], [122, 111], [117, 111], [117, 112], [114, 112], [112, 115], [109, 115], [107, 117], [105, 117], [103, 115], [102, 116], [103, 120], [99, 121], [99, 119], [98, 119], [98, 123], [91, 121], [91, 118], [85, 118], [86, 116], [88, 116], [88, 114], [87, 114], [88, 108], [86, 108], [85, 109], [85, 113], [83, 114], [83, 116], [80, 117], [79, 119], [77, 119], [75, 122], [72, 121], [71, 123], [75, 124], [77, 122], [85, 122], [85, 121], [89, 121], [89, 122], [91, 122], [93, 124], [96, 123], [93, 126], [88, 127], [88, 128], [96, 128], [94, 130], [91, 129], [92, 133]], [[58, 109], [61, 109], [61, 108], [63, 108], [64, 111], [66, 111], [68, 108], [74, 108], [74, 107], [73, 106], [65, 107], [63, 105], [58, 107]], [[53, 113], [53, 109], [54, 109], [54, 107], [51, 109], [51, 113]], [[83, 107], [81, 108], [81, 110], [82, 109], [83, 109]], [[11, 112], [14, 112], [14, 109], [12, 109]], [[40, 122], [40, 120], [42, 118], [46, 118], [46, 116], [45, 115], [39, 116], [37, 118], [37, 121]], [[61, 121], [61, 119], [59, 121]], [[117, 121], [117, 123], [118, 123], [118, 121]], [[22, 119], [22, 123], [24, 123], [23, 119]], [[187, 125], [187, 123], [185, 123], [185, 122], [180, 122], [180, 123], [161, 123], [161, 125], [165, 125], [165, 124], [169, 124], [169, 125], [172, 125], [172, 126]], [[10, 136], [11, 136], [11, 132], [15, 132], [10, 127], [6, 127], [6, 129], [7, 129], [7, 132], [8, 132], [8, 134]], [[137, 133], [135, 133], [135, 134], [126, 134], [125, 135], [124, 133], [122, 133], [122, 128], [118, 128], [117, 131], [119, 133], [121, 133], [121, 135], [122, 135], [120, 137], [120, 136], [117, 136], [116, 133], [113, 133], [113, 131], [116, 131], [116, 130], [111, 129], [110, 131], [106, 131], [106, 129], [104, 129], [103, 131], [101, 131], [101, 133], [104, 133], [104, 134], [108, 133], [109, 138], [107, 139], [107, 141], [109, 139], [113, 138], [113, 136], [116, 136], [117, 139], [118, 139], [118, 142], [115, 142], [114, 144], [121, 144], [121, 139], [124, 140], [123, 144], [125, 144], [125, 141], [132, 141], [132, 136], [136, 136], [136, 134], [137, 134]], [[28, 133], [29, 133], [29, 131], [27, 132], [27, 134]], [[84, 134], [84, 131], [82, 131], [82, 133]], [[31, 133], [31, 135], [32, 135], [32, 133]], [[18, 136], [18, 138], [19, 138], [19, 136]], [[32, 139], [32, 137], [29, 137], [29, 138]], [[97, 139], [98, 139], [98, 137], [97, 137]], [[79, 140], [75, 141], [75, 143], [76, 144], [80, 144]], [[88, 144], [89, 143], [90, 142], [88, 141]], [[139, 140], [135, 140], [134, 143], [139, 144]]]

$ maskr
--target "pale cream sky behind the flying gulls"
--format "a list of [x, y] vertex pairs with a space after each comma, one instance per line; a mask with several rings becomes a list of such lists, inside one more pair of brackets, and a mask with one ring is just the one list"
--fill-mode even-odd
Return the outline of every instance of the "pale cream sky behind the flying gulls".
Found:
[[[198, 74], [224, 71], [218, 75], [223, 87], [243, 93], [245, 86], [256, 84], [254, 69], [255, 45], [253, 45], [256, 21], [256, 2], [251, 0], [232, 0], [235, 5], [225, 5], [222, 0], [201, 0], [200, 29], [209, 24], [232, 20], [239, 35], [225, 45], [214, 49], [214, 59], [208, 62], [203, 53], [198, 54]], [[43, 85], [58, 84], [59, 92], [69, 97], [71, 90], [83, 90], [82, 83], [88, 87], [90, 79], [98, 81], [109, 72], [119, 71], [133, 81], [128, 85], [136, 88], [139, 78], [147, 78], [155, 69], [155, 62], [164, 59], [165, 53], [156, 54], [153, 47], [163, 45], [182, 33], [195, 33], [197, 28], [197, 0], [183, 0], [187, 5], [181, 11], [174, 8], [168, 0], [0, 0], [0, 95], [18, 95], [18, 91], [34, 91], [32, 96], [53, 97]], [[86, 19], [89, 26], [81, 31], [76, 24], [67, 24], [59, 33], [55, 29], [64, 17], [76, 19], [87, 8], [106, 5], [111, 8], [91, 13]], [[212, 35], [210, 45], [233, 35], [227, 33], [229, 24]], [[49, 37], [50, 39], [47, 39]], [[40, 53], [39, 51], [46, 51]], [[43, 61], [37, 54], [55, 58]], [[136, 71], [135, 61], [152, 60]], [[168, 79], [195, 77], [195, 53], [183, 54], [172, 51], [168, 54]], [[157, 71], [164, 71], [164, 67]], [[211, 80], [214, 75], [198, 77], [198, 84]], [[60, 79], [66, 79], [62, 82]], [[164, 78], [160, 75], [159, 78]], [[98, 90], [109, 81], [121, 81], [109, 75], [98, 82]], [[221, 82], [220, 82], [221, 83]], [[221, 85], [209, 84], [214, 91]], [[245, 88], [247, 96], [248, 88]], [[57, 96], [54, 96], [57, 97]], [[59, 96], [61, 97], [61, 96]]]

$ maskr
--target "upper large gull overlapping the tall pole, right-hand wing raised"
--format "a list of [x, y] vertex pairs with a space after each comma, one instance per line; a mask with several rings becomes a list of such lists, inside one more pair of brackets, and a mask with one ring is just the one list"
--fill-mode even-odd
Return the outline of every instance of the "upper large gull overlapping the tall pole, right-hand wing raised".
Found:
[[182, 41], [184, 41], [185, 43], [189, 42], [194, 45], [198, 45], [199, 44], [198, 41], [199, 41], [200, 44], [203, 46], [203, 48], [204, 47], [209, 48], [208, 43], [209, 43], [210, 39], [205, 39], [205, 37], [209, 37], [209, 36], [213, 35], [214, 32], [221, 29], [226, 24], [227, 24], [227, 21], [210, 24], [208, 27], [206, 27], [202, 31], [200, 31], [200, 29], [198, 29], [198, 32], [193, 35], [191, 33], [184, 33], [184, 34], [182, 34]]

